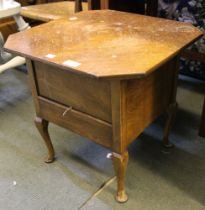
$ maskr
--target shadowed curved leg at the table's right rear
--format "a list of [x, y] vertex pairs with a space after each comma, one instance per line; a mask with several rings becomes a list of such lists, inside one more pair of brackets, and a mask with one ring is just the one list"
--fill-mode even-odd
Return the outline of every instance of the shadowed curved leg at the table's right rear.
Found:
[[172, 148], [173, 144], [169, 142], [169, 134], [173, 126], [173, 122], [176, 116], [177, 103], [170, 104], [167, 110], [167, 121], [164, 128], [163, 146], [166, 148]]

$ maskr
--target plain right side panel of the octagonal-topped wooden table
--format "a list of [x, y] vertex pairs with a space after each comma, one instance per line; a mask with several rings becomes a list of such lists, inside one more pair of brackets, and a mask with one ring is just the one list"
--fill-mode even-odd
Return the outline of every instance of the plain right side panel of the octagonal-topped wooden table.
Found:
[[173, 59], [144, 78], [127, 81], [124, 111], [128, 144], [172, 103], [176, 71]]

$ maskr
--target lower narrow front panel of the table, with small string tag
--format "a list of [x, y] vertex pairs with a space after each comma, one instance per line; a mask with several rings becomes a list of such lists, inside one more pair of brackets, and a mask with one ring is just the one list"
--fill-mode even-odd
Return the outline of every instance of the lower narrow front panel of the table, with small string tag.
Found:
[[42, 97], [38, 97], [38, 101], [42, 118], [112, 148], [112, 126], [109, 123]]

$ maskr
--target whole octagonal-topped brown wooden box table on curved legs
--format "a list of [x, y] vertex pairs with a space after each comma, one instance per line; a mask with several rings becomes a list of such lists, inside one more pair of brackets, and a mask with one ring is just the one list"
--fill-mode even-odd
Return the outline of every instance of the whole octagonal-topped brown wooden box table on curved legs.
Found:
[[116, 199], [127, 201], [127, 147], [176, 104], [176, 55], [201, 35], [189, 24], [116, 11], [82, 12], [12, 35], [6, 49], [27, 58], [48, 161], [54, 151], [47, 122], [110, 148]]

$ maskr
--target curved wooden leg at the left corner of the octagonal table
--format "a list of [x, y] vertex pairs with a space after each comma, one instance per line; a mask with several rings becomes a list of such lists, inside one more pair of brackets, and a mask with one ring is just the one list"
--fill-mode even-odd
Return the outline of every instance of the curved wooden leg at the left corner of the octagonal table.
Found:
[[47, 120], [44, 120], [40, 117], [35, 118], [36, 127], [38, 131], [40, 132], [43, 140], [45, 141], [45, 144], [48, 149], [48, 157], [46, 158], [45, 162], [52, 163], [54, 161], [55, 152], [54, 152], [53, 145], [52, 145], [49, 133], [48, 133], [48, 123], [49, 122]]

